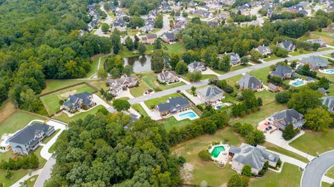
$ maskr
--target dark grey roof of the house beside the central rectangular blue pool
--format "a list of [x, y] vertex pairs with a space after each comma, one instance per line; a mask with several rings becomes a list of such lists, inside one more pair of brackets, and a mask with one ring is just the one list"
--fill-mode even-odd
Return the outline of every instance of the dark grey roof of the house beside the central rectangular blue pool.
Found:
[[157, 108], [160, 112], [173, 112], [186, 106], [189, 106], [189, 101], [185, 97], [170, 97], [164, 104], [159, 103]]

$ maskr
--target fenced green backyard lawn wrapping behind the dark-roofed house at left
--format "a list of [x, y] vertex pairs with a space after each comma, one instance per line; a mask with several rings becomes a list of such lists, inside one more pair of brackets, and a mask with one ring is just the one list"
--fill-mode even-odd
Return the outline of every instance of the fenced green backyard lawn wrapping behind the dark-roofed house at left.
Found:
[[[45, 95], [43, 97], [40, 97], [40, 100], [42, 101], [42, 103], [45, 106], [45, 109], [47, 109], [47, 113], [49, 113], [49, 115], [52, 115], [54, 113], [56, 113], [56, 111], [60, 110], [61, 104], [59, 104], [59, 101], [61, 99], [67, 99], [67, 97], [61, 97], [62, 94], [65, 94], [66, 92], [69, 91], [74, 91], [76, 90], [75, 93], [81, 93], [81, 92], [94, 92], [95, 90], [93, 90], [93, 88], [90, 88], [89, 86], [87, 86], [86, 84], [81, 84], [78, 86], [73, 86], [70, 88], [66, 88], [64, 90], [60, 90], [58, 92], [54, 92], [51, 93], [49, 95]], [[73, 95], [73, 94], [72, 94]]]

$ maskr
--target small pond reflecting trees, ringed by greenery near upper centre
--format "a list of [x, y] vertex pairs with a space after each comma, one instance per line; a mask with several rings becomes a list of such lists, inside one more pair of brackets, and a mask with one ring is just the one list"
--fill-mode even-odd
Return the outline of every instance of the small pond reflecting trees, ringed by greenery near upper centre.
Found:
[[135, 56], [130, 58], [123, 58], [124, 66], [132, 65], [134, 72], [147, 72], [151, 70], [151, 55]]

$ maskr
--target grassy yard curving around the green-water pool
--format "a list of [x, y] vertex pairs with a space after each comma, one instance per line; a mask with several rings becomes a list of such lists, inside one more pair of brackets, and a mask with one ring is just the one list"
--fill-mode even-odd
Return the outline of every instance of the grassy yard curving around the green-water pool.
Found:
[[221, 186], [228, 181], [232, 174], [236, 174], [230, 168], [230, 165], [226, 165], [225, 168], [220, 169], [214, 163], [201, 161], [198, 157], [198, 152], [207, 149], [207, 146], [212, 142], [221, 141], [224, 138], [229, 139], [230, 145], [237, 146], [243, 142], [243, 139], [237, 133], [234, 133], [232, 128], [226, 127], [225, 129], [218, 130], [213, 135], [199, 136], [171, 148], [173, 153], [184, 156], [186, 162], [193, 165], [193, 179], [185, 182], [200, 184], [202, 180], [205, 180], [209, 186]]

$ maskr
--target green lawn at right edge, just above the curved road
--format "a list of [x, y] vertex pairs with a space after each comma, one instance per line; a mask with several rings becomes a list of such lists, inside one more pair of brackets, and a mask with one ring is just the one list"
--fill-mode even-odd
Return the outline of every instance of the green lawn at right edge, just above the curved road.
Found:
[[328, 133], [317, 133], [306, 130], [305, 134], [296, 140], [291, 145], [302, 152], [308, 152], [312, 156], [317, 156], [323, 152], [334, 149], [334, 129], [330, 129]]

